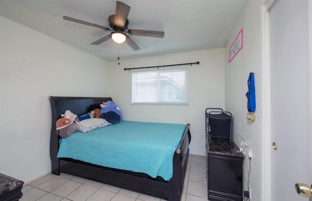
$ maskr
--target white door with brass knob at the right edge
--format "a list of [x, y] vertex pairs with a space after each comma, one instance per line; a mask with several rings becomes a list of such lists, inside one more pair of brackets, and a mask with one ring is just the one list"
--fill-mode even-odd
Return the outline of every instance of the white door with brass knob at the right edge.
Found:
[[311, 185], [308, 4], [277, 0], [269, 14], [271, 201], [308, 201], [295, 191], [295, 183]]

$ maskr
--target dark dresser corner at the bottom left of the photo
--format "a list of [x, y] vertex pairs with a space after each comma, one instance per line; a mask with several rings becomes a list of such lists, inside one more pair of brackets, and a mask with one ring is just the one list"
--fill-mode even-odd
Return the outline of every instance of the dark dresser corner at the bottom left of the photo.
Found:
[[24, 182], [0, 173], [0, 201], [18, 201]]

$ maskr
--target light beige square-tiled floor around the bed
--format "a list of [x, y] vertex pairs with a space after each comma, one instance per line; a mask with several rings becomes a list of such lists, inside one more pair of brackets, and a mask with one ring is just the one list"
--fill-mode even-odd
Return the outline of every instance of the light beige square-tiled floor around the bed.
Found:
[[[181, 201], [207, 201], [205, 158], [190, 155]], [[106, 183], [61, 173], [47, 174], [22, 188], [20, 201], [165, 201]]]

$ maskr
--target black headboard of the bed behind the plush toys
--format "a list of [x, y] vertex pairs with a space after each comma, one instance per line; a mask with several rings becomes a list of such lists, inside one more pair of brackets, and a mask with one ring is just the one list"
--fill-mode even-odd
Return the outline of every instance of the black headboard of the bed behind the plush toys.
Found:
[[[112, 101], [111, 97], [61, 97], [49, 96], [52, 110], [52, 127], [50, 136], [50, 157], [51, 160], [58, 160], [60, 137], [55, 134], [57, 120], [65, 110], [70, 110], [74, 114], [81, 115], [88, 113], [94, 109], [100, 109], [102, 102]], [[54, 171], [56, 167], [52, 167]]]

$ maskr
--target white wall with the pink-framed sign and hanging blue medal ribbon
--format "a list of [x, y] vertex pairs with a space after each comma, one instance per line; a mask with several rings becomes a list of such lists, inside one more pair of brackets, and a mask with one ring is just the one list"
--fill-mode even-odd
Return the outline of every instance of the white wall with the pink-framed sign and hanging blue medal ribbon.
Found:
[[[264, 0], [247, 1], [244, 12], [234, 25], [231, 37], [225, 47], [226, 58], [228, 50], [235, 37], [243, 27], [243, 49], [236, 57], [225, 65], [225, 108], [232, 111], [234, 116], [234, 142], [240, 146], [242, 139], [248, 141], [252, 148], [253, 158], [251, 161], [250, 186], [252, 200], [260, 200], [261, 190], [261, 54], [262, 47], [260, 36], [260, 5]], [[249, 73], [254, 73], [256, 110], [255, 121], [246, 119], [248, 91], [247, 80]], [[247, 150], [247, 148], [245, 149]], [[248, 190], [249, 159], [244, 160], [244, 190]]]

